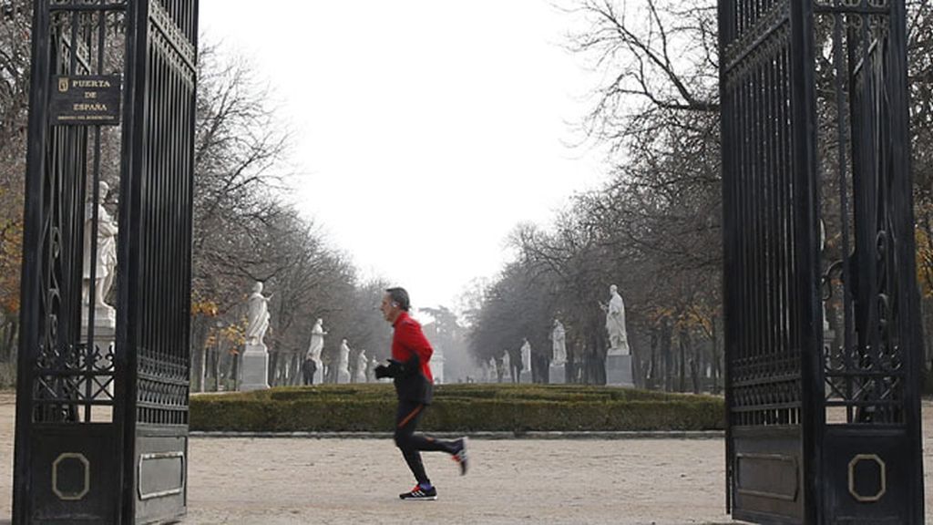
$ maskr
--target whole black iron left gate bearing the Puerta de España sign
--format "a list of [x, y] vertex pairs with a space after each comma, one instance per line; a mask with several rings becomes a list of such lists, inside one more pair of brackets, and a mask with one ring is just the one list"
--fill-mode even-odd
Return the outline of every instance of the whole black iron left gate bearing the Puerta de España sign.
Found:
[[34, 2], [14, 523], [185, 513], [197, 10]]

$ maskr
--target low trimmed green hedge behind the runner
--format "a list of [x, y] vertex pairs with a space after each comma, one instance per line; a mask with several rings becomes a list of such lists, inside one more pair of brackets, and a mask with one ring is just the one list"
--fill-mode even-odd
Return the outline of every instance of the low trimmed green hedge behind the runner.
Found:
[[[578, 385], [441, 385], [419, 425], [433, 432], [703, 431], [724, 428], [706, 395]], [[196, 394], [192, 431], [391, 432], [391, 385], [321, 385]]]

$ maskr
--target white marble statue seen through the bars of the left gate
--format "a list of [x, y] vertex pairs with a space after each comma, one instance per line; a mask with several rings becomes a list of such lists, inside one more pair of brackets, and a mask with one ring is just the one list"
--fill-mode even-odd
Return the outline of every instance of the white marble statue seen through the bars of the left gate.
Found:
[[110, 186], [103, 180], [97, 192], [97, 252], [91, 262], [91, 239], [94, 236], [94, 201], [88, 196], [84, 206], [84, 280], [82, 297], [84, 305], [90, 303], [91, 268], [94, 268], [94, 307], [104, 311], [113, 311], [113, 306], [104, 303], [107, 293], [113, 287], [117, 277], [117, 223], [104, 207], [104, 198]]

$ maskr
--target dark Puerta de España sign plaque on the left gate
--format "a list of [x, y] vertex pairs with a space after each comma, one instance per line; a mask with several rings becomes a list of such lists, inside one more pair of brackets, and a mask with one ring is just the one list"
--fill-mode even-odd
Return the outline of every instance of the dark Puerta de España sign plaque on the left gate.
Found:
[[49, 110], [52, 124], [118, 125], [119, 75], [52, 78]]

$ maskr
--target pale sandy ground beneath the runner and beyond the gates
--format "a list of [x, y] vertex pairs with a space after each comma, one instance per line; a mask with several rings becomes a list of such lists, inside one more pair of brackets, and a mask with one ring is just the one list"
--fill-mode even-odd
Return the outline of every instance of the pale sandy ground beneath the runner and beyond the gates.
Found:
[[[13, 398], [0, 394], [0, 523], [9, 523]], [[924, 404], [933, 523], [933, 404]], [[729, 523], [721, 439], [470, 441], [460, 476], [425, 454], [436, 502], [401, 502], [411, 475], [391, 440], [192, 438], [188, 524]]]

